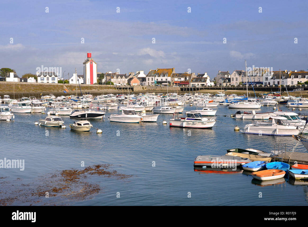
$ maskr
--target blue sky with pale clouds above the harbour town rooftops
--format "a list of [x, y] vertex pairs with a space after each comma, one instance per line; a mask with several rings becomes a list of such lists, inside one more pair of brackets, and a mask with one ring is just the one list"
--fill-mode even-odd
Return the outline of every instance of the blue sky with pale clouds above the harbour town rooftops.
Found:
[[308, 1], [29, 0], [1, 6], [0, 68], [19, 76], [41, 65], [83, 74], [87, 51], [98, 72], [174, 67], [213, 78], [218, 70], [245, 70], [245, 59], [247, 67], [308, 71]]

